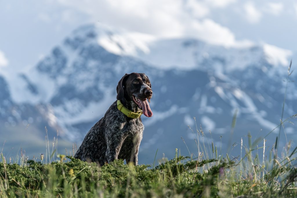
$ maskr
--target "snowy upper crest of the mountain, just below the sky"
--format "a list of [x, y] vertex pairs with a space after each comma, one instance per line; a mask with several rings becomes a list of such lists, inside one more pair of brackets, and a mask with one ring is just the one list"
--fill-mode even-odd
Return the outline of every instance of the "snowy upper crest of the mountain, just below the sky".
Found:
[[[258, 65], [263, 69], [270, 67], [287, 66], [288, 58], [292, 56], [290, 50], [263, 44], [252, 47], [230, 47], [210, 45], [198, 39], [157, 39], [148, 34], [138, 32], [128, 32], [108, 27], [103, 24], [86, 25], [74, 30], [63, 43], [64, 51], [80, 50], [79, 55], [84, 57], [109, 56], [104, 60], [114, 59], [114, 55], [132, 56], [145, 62], [162, 66], [162, 69], [215, 69], [218, 72], [231, 72], [234, 70], [243, 70], [248, 66]], [[81, 51], [83, 46], [93, 46], [93, 49]], [[105, 54], [104, 48], [110, 54]], [[67, 49], [69, 48], [69, 49]], [[60, 61], [57, 62], [58, 71], [65, 64], [63, 50], [59, 47], [55, 49], [60, 51]], [[53, 51], [53, 53], [55, 53]], [[86, 53], [93, 53], [89, 56]], [[70, 54], [71, 55], [71, 54]], [[69, 56], [69, 54], [68, 54]], [[55, 61], [55, 60], [48, 60]], [[205, 64], [206, 62], [211, 65]], [[46, 66], [44, 71], [49, 71]], [[278, 69], [277, 69], [278, 70]], [[275, 71], [274, 71], [275, 72]]]

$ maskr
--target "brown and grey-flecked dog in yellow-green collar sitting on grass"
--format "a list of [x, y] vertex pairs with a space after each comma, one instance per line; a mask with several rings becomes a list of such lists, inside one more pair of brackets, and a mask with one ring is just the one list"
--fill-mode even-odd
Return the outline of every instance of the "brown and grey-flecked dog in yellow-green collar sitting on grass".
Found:
[[86, 134], [75, 158], [99, 166], [115, 159], [138, 164], [143, 136], [140, 115], [153, 115], [148, 101], [153, 95], [151, 82], [143, 73], [125, 74], [116, 87], [116, 101]]

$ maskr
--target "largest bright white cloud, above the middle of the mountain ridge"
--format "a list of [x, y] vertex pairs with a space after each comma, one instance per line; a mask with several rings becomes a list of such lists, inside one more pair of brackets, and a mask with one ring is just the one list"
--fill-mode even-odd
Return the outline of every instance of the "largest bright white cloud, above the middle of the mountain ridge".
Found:
[[[215, 45], [240, 46], [233, 32], [206, 18], [211, 6], [226, 6], [235, 0], [58, 0], [90, 17], [116, 28], [151, 34], [157, 38], [194, 37]], [[190, 10], [190, 11], [189, 11]]]

